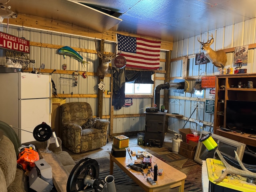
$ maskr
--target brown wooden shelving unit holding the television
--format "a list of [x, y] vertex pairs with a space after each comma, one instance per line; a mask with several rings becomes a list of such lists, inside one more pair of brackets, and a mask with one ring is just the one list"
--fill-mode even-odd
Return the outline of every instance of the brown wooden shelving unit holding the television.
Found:
[[[238, 83], [246, 84], [252, 81], [254, 88], [238, 88]], [[214, 112], [214, 134], [256, 146], [256, 139], [248, 137], [250, 134], [240, 134], [220, 130], [226, 128], [226, 101], [243, 100], [256, 101], [256, 74], [226, 74], [216, 76], [216, 96]]]

